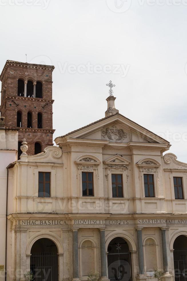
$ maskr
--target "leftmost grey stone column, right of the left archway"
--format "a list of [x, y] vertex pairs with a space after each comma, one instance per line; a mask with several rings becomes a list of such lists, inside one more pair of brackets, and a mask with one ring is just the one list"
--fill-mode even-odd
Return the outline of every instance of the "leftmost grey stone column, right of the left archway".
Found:
[[73, 229], [73, 280], [79, 280], [78, 229]]

